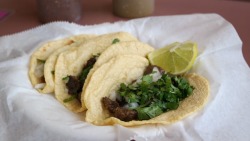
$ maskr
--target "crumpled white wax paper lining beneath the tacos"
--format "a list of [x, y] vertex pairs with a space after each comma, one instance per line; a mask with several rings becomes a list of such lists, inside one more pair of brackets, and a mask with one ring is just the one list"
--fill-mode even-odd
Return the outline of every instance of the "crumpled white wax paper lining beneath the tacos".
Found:
[[[171, 125], [94, 126], [53, 95], [32, 88], [28, 63], [41, 44], [76, 34], [126, 31], [155, 48], [195, 41], [191, 70], [206, 77], [205, 107]], [[2, 141], [246, 141], [250, 139], [250, 69], [234, 27], [217, 14], [160, 16], [81, 26], [49, 23], [0, 38], [0, 140]]]

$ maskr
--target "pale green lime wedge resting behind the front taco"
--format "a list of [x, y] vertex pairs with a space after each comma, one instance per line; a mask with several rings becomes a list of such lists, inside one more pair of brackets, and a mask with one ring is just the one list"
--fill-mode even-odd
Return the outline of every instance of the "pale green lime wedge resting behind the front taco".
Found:
[[175, 42], [148, 54], [148, 60], [171, 74], [182, 74], [191, 69], [198, 50], [194, 42]]

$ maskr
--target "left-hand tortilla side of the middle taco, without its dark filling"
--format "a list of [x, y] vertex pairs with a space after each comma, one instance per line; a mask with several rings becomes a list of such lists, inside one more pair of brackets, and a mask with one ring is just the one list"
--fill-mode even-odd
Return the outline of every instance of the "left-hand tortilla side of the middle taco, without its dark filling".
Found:
[[137, 41], [134, 36], [126, 32], [103, 34], [86, 41], [76, 49], [65, 51], [58, 56], [55, 67], [55, 96], [69, 110], [78, 113], [86, 110], [86, 108], [77, 99], [64, 102], [71, 95], [68, 94], [62, 78], [69, 75], [79, 76], [87, 61], [94, 55], [102, 54], [104, 50], [112, 45], [114, 39], [118, 39], [119, 42]]

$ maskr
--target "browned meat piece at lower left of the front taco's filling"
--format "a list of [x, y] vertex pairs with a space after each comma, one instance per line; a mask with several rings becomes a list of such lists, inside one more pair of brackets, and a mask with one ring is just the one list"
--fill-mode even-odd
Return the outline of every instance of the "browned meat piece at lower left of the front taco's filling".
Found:
[[107, 97], [102, 98], [103, 106], [111, 113], [114, 117], [122, 121], [131, 121], [137, 119], [137, 111], [120, 107], [119, 103], [113, 101]]

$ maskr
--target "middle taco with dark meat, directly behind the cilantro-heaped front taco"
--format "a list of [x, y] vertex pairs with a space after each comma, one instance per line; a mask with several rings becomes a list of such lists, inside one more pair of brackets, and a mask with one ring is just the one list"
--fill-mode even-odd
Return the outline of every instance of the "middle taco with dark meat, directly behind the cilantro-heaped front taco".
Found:
[[[104, 34], [88, 40], [77, 49], [61, 53], [55, 68], [55, 96], [57, 100], [71, 111], [82, 112], [86, 110], [84, 103], [81, 103], [81, 93], [83, 87], [87, 84], [86, 78], [91, 77], [93, 72], [89, 74], [90, 70], [97, 68], [101, 64], [97, 63], [96, 65], [96, 62], [102, 59], [108, 60], [109, 55], [114, 56], [121, 53], [122, 51], [117, 49], [122, 48], [126, 44], [125, 42], [131, 42], [130, 45], [143, 46], [143, 49], [135, 52], [131, 50], [129, 53], [146, 56], [147, 53], [153, 50], [152, 47], [146, 44], [132, 43], [132, 41], [138, 42], [135, 37], [126, 32]], [[119, 47], [119, 44], [123, 45]], [[112, 46], [118, 47], [114, 49], [115, 47]], [[104, 53], [110, 47], [111, 50]]]

